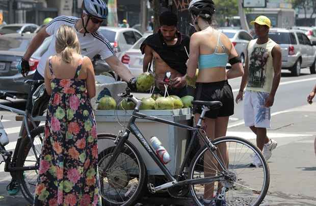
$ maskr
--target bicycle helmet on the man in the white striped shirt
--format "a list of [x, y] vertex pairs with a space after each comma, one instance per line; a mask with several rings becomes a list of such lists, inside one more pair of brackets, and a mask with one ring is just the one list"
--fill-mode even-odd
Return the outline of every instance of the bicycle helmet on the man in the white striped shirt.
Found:
[[[84, 0], [82, 3], [82, 9], [88, 15], [88, 21], [90, 19], [90, 16], [106, 19], [109, 14], [108, 6], [102, 0]], [[82, 20], [83, 20], [83, 26], [85, 29], [85, 34], [84, 34], [85, 36], [86, 33], [89, 33], [89, 32], [87, 31], [87, 25], [85, 25], [83, 17], [82, 17]]]

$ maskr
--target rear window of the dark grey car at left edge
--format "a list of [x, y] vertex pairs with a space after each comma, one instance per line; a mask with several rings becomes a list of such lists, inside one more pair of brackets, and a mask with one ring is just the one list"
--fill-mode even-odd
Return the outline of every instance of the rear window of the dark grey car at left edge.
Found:
[[4, 51], [25, 51], [27, 50], [32, 38], [11, 38], [1, 37], [0, 38], [0, 50]]

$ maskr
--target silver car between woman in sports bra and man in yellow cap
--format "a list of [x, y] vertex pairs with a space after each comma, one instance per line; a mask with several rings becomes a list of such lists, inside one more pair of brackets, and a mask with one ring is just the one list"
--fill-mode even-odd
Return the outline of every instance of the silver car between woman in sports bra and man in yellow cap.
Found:
[[[247, 45], [249, 41], [253, 39], [252, 36], [245, 30], [235, 30], [232, 28], [222, 28], [219, 31], [230, 39], [241, 58], [242, 64], [244, 65], [246, 60]], [[231, 67], [229, 63], [227, 64], [227, 67]]]

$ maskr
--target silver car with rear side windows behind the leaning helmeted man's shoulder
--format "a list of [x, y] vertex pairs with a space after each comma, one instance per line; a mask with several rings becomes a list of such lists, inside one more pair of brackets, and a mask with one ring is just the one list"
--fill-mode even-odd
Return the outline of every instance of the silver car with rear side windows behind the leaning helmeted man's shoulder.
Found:
[[143, 36], [134, 28], [100, 26], [99, 32], [111, 43], [117, 56], [130, 49]]

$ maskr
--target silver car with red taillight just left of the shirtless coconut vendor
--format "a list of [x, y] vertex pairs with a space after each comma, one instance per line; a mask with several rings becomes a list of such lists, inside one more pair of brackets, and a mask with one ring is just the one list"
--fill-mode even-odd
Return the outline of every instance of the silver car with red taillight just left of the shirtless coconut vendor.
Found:
[[143, 41], [147, 38], [147, 36], [140, 38], [130, 49], [128, 49], [125, 52], [122, 52], [119, 57], [121, 62], [129, 69], [131, 74], [133, 74], [135, 77], [138, 77], [141, 73], [143, 73], [144, 54], [142, 54], [140, 46], [143, 43]]

